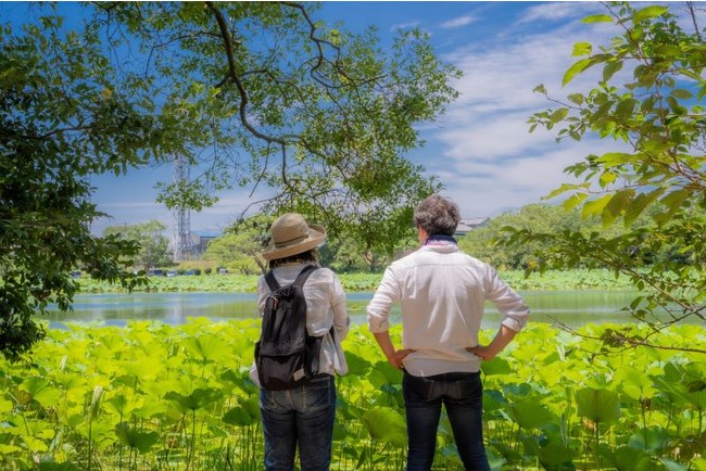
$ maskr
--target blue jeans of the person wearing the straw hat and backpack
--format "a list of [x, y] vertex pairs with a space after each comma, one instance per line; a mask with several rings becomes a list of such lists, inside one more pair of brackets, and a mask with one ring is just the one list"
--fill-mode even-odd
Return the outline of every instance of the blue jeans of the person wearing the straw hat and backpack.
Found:
[[293, 470], [298, 444], [302, 471], [329, 469], [336, 416], [333, 377], [319, 374], [293, 390], [261, 390], [260, 410], [266, 470]]

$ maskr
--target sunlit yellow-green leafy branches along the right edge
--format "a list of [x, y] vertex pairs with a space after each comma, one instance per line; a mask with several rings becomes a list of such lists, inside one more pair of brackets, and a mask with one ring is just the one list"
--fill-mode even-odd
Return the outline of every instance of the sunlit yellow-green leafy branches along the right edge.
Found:
[[[510, 243], [552, 246], [530, 268], [587, 266], [627, 275], [644, 292], [632, 316], [646, 319], [665, 308], [671, 314], [666, 324], [706, 319], [706, 47], [693, 5], [688, 3], [684, 26], [671, 13], [676, 8], [610, 3], [608, 14], [587, 18], [609, 21], [617, 36], [607, 46], [577, 44], [575, 54], [584, 59], [566, 72], [564, 82], [593, 72], [597, 86], [565, 103], [551, 99], [562, 107], [530, 118], [531, 130], [557, 128], [558, 141], [595, 136], [616, 141], [612, 152], [566, 169], [583, 183], [562, 186], [551, 196], [568, 195], [567, 208], [625, 230], [508, 231]], [[549, 98], [543, 86], [535, 91]], [[652, 218], [650, 226], [638, 224], [643, 215]]]

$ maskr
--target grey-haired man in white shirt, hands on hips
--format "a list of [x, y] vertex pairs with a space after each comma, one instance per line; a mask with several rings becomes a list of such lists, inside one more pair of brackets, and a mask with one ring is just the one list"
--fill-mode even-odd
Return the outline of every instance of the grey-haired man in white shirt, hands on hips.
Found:
[[[442, 405], [466, 470], [489, 470], [482, 438], [480, 362], [495, 357], [527, 323], [529, 308], [488, 264], [458, 250], [458, 206], [440, 195], [414, 214], [421, 247], [390, 265], [367, 307], [368, 327], [395, 368], [407, 416], [407, 471], [430, 470]], [[503, 315], [497, 334], [480, 345], [486, 301]], [[402, 310], [402, 348], [389, 334], [394, 303]]]

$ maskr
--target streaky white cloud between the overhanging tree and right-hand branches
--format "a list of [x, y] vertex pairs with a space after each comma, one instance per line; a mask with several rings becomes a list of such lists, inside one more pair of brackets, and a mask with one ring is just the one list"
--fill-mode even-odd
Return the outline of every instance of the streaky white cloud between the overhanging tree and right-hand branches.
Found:
[[[546, 5], [542, 14], [565, 17], [564, 7]], [[539, 10], [533, 14], [540, 17]], [[464, 72], [456, 84], [461, 97], [449, 107], [443, 127], [434, 130], [443, 158], [425, 166], [440, 177], [445, 194], [459, 204], [464, 216], [493, 216], [540, 202], [562, 182], [572, 182], [564, 168], [615, 145], [589, 137], [557, 144], [556, 131], [543, 128], [529, 133], [533, 113], [557, 106], [533, 93], [535, 86], [544, 84], [556, 98], [595, 86], [590, 76], [560, 86], [564, 72], [577, 60], [570, 56], [573, 42], [591, 40], [595, 34], [564, 22], [555, 30], [516, 36], [513, 41], [499, 35], [444, 58]]]

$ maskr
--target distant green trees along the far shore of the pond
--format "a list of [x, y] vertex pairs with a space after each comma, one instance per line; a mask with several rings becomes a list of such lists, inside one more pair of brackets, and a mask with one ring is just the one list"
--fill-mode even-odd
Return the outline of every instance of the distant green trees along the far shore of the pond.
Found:
[[[654, 225], [653, 216], [658, 212], [655, 207], [651, 212], [641, 215], [633, 226], [650, 229]], [[706, 214], [706, 211], [702, 212]], [[157, 221], [148, 221], [133, 226], [110, 227], [106, 233], [123, 233], [140, 243], [142, 249], [134, 259], [134, 269], [159, 269], [163, 272], [174, 270], [175, 273], [184, 273], [193, 270], [197, 273], [216, 273], [218, 269], [227, 270], [229, 273], [243, 276], [260, 275], [263, 272], [265, 262], [260, 257], [260, 250], [263, 244], [263, 237], [267, 232], [268, 220], [264, 215], [256, 215], [239, 224], [231, 226], [223, 234], [210, 241], [204, 253], [194, 259], [171, 263], [168, 253], [168, 240], [164, 236], [166, 227]], [[489, 218], [482, 226], [471, 229], [465, 234], [457, 236], [461, 247], [472, 256], [482, 259], [501, 271], [524, 271], [538, 267], [542, 259], [542, 253], [551, 250], [551, 242], [542, 243], [532, 241], [525, 244], [506, 243], [503, 240], [506, 228], [513, 230], [526, 230], [533, 233], [554, 233], [563, 231], [576, 231], [582, 233], [600, 233], [606, 238], [619, 238], [626, 233], [623, 226], [616, 225], [608, 229], [603, 228], [601, 218], [583, 218], [579, 211], [566, 212], [562, 206], [533, 203], [522, 206], [517, 211], [503, 213]], [[121, 231], [118, 231], [118, 229]], [[633, 228], [634, 229], [634, 228]], [[322, 263], [338, 273], [355, 273], [364, 277], [363, 273], [381, 273], [384, 267], [393, 259], [415, 250], [413, 237], [403, 240], [392, 253], [366, 252], [361, 243], [344, 238], [329, 238], [329, 241], [320, 249]], [[642, 252], [633, 258], [635, 267], [652, 265], [664, 260], [684, 262], [688, 254], [680, 251], [677, 242], [666, 241], [657, 252]], [[356, 278], [356, 277], [354, 277]], [[360, 277], [358, 277], [360, 278]], [[365, 278], [365, 277], [364, 277]], [[610, 277], [608, 277], [610, 278]], [[377, 279], [367, 277], [366, 279]], [[572, 282], [567, 280], [567, 288], [577, 287], [580, 289], [583, 281]], [[189, 285], [194, 282], [168, 282], [154, 281], [152, 288]], [[538, 280], [541, 288], [542, 281]], [[203, 283], [203, 291], [212, 291], [212, 283]], [[531, 282], [530, 282], [531, 284]], [[603, 284], [598, 283], [597, 288]], [[103, 284], [101, 284], [103, 285]], [[108, 283], [106, 291], [114, 289]], [[591, 288], [589, 285], [588, 288]], [[147, 289], [151, 289], [148, 287]], [[253, 287], [254, 289], [254, 287]], [[353, 290], [358, 287], [353, 284]], [[364, 289], [374, 289], [366, 287]], [[553, 289], [553, 288], [550, 288]], [[90, 289], [91, 291], [92, 288]], [[189, 291], [198, 291], [187, 289]]]

